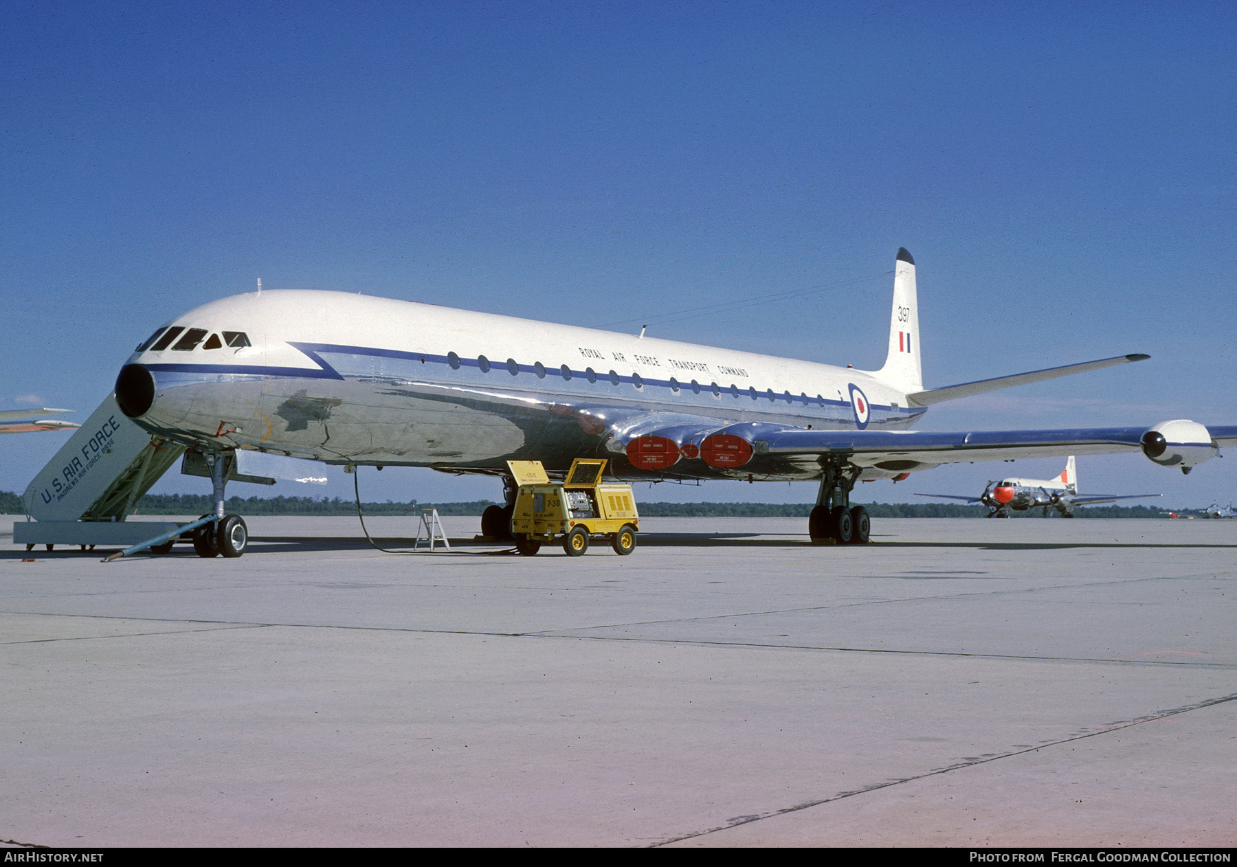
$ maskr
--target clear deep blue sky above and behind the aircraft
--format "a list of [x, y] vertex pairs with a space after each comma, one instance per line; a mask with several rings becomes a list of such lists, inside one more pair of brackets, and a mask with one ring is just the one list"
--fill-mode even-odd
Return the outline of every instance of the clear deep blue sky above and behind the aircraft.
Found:
[[[929, 386], [1153, 356], [922, 427], [1237, 423], [1228, 10], [943, 6], [6, 2], [0, 408], [84, 419], [156, 325], [259, 277], [872, 369], [905, 246]], [[0, 490], [63, 439], [0, 439]], [[1205, 506], [1237, 493], [1237, 450], [1189, 477], [1136, 455], [1079, 474]], [[328, 475], [275, 492], [351, 495]], [[429, 470], [362, 484], [499, 492]], [[802, 502], [814, 485], [641, 496]]]

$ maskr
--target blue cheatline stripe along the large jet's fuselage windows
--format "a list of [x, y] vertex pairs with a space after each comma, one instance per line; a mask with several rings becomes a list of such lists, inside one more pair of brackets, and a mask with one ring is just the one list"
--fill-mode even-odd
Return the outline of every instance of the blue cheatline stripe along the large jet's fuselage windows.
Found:
[[[907, 335], [907, 336], [909, 338], [909, 335]], [[179, 374], [241, 374], [241, 375], [247, 375], [247, 376], [287, 376], [287, 377], [315, 378], [315, 380], [343, 380], [344, 378], [339, 374], [339, 371], [336, 371], [325, 359], [322, 357], [322, 355], [320, 355], [322, 352], [334, 354], [334, 355], [367, 355], [367, 356], [381, 357], [381, 359], [398, 359], [398, 360], [402, 360], [402, 361], [419, 361], [419, 362], [423, 362], [423, 364], [447, 365], [448, 367], [452, 366], [448, 356], [445, 356], [445, 355], [437, 355], [434, 352], [408, 352], [408, 351], [398, 350], [398, 349], [377, 349], [375, 346], [346, 346], [346, 345], [343, 345], [343, 344], [323, 344], [323, 343], [289, 343], [288, 345], [292, 346], [293, 349], [297, 349], [301, 352], [303, 352], [310, 361], [313, 361], [315, 365], [318, 365], [318, 367], [273, 367], [273, 366], [260, 366], [260, 365], [209, 365], [209, 364], [147, 364], [145, 366], [147, 367], [147, 370], [152, 370], [152, 371], [166, 371], [166, 372], [179, 372]], [[507, 374], [510, 374], [510, 371], [507, 370], [507, 366], [506, 366], [506, 361], [494, 361], [492, 359], [489, 359], [489, 357], [486, 357], [486, 360], [490, 362], [490, 371], [491, 372], [507, 372]], [[481, 364], [480, 364], [479, 359], [464, 359], [464, 357], [460, 357], [459, 359], [459, 364], [460, 364], [460, 367], [474, 367], [474, 369], [477, 369], [477, 370], [480, 370], [480, 367], [481, 367]], [[518, 369], [518, 371], [521, 374], [532, 374], [534, 376], [537, 375], [537, 366], [536, 365], [521, 365], [521, 364], [517, 364], [517, 369]], [[568, 370], [571, 371], [571, 378], [573, 380], [575, 377], [586, 377], [586, 374], [583, 370], [573, 370], [570, 367]], [[549, 378], [550, 376], [559, 376], [559, 377], [562, 377], [562, 372], [560, 371], [562, 371], [562, 367], [550, 367], [550, 366], [547, 365], [546, 366], [546, 378]], [[538, 378], [541, 378], [541, 377], [538, 377]], [[611, 382], [610, 381], [610, 376], [609, 376], [609, 371], [597, 372], [597, 381], [600, 382], [602, 380], [606, 381], [606, 382]], [[618, 385], [622, 385], [625, 382], [628, 383], [628, 385], [631, 385], [631, 386], [633, 386], [633, 387], [636, 387], [635, 376], [622, 376], [620, 374], [618, 375]], [[690, 381], [687, 382], [687, 383], [684, 383], [684, 382], [679, 382], [675, 378], [675, 382], [678, 382], [679, 387], [678, 387], [677, 391], [679, 391], [679, 392], [682, 392], [684, 388], [690, 388]], [[617, 387], [617, 386], [615, 386], [615, 387]], [[642, 388], [643, 387], [672, 388], [670, 380], [654, 380], [654, 378], [646, 378], [646, 377], [641, 377], [641, 387]], [[719, 390], [721, 392], [730, 391], [729, 386], [722, 386], [721, 383], [719, 383], [717, 387], [719, 387]], [[710, 393], [711, 391], [713, 391], [713, 381], [710, 381], [709, 383], [701, 383], [700, 385], [700, 393], [701, 395]], [[764, 392], [757, 391], [757, 396], [758, 397], [764, 397]], [[720, 395], [717, 397], [720, 398]], [[735, 399], [740, 399], [742, 397], [750, 397], [750, 393], [748, 393], [747, 388], [740, 390], [738, 397], [735, 398]], [[837, 399], [833, 399], [833, 398], [828, 398], [828, 397], [823, 397], [823, 399], [824, 399], [824, 403], [821, 403], [816, 398], [809, 397], [807, 406], [808, 407], [815, 406], [815, 407], [820, 407], [820, 408], [824, 408], [824, 407], [850, 407], [851, 406], [850, 402], [847, 402], [847, 401], [837, 401]], [[776, 401], [774, 401], [774, 403], [776, 403]], [[792, 406], [792, 407], [795, 406], [794, 398], [792, 398], [789, 401], [788, 406]], [[897, 408], [894, 408], [894, 407], [892, 407], [889, 404], [880, 404], [880, 403], [868, 403], [868, 407], [872, 408], [872, 409], [882, 409], [882, 411], [886, 411], [886, 412], [897, 412], [897, 413], [904, 414], [904, 416], [919, 414], [919, 413], [924, 412], [924, 409], [919, 408], [919, 407], [914, 407], [914, 408], [913, 407], [897, 407]], [[803, 408], [807, 408], [807, 407], [803, 407]]]

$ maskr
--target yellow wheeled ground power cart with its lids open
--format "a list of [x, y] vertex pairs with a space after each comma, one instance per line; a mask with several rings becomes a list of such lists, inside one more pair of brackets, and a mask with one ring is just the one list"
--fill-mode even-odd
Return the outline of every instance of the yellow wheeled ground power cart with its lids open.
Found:
[[591, 536], [609, 537], [618, 554], [636, 548], [636, 498], [631, 485], [601, 481], [605, 459], [576, 458], [562, 484], [549, 480], [539, 460], [508, 460], [507, 466], [520, 487], [511, 532], [524, 557], [558, 538], [570, 557], [586, 552]]

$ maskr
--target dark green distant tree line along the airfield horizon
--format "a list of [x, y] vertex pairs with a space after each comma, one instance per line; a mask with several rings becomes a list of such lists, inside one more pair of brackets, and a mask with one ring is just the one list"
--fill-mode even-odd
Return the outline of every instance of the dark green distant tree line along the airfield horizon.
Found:
[[[367, 502], [361, 503], [366, 516], [419, 515], [422, 508], [437, 508], [439, 515], [480, 515], [490, 500], [471, 502], [418, 503]], [[959, 503], [863, 503], [873, 518], [980, 518], [987, 515], [983, 506]], [[646, 518], [807, 518], [813, 503], [763, 503], [763, 502], [641, 502], [640, 513]], [[139, 515], [205, 515], [213, 508], [210, 497], [199, 493], [147, 493], [137, 502]], [[356, 503], [340, 497], [314, 500], [313, 497], [229, 497], [226, 510], [236, 515], [356, 515]], [[1091, 506], [1076, 508], [1079, 518], [1163, 518], [1166, 510], [1148, 506]], [[1183, 515], [1199, 510], [1179, 510]], [[0, 515], [21, 515], [21, 497], [11, 491], [0, 491]], [[1012, 512], [1016, 518], [1038, 518], [1042, 511]], [[1050, 517], [1058, 517], [1055, 510]]]

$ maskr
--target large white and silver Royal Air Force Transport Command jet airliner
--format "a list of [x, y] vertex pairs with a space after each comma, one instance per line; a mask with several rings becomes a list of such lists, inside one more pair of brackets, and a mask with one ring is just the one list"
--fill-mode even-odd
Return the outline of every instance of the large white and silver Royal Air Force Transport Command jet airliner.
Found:
[[[267, 291], [198, 307], [161, 327], [120, 370], [115, 401], [156, 439], [198, 453], [214, 480], [215, 536], [199, 554], [244, 550], [224, 516], [238, 449], [355, 471], [429, 466], [502, 476], [508, 460], [550, 475], [610, 459], [627, 480], [819, 480], [814, 540], [867, 542], [856, 482], [940, 464], [1142, 451], [1189, 472], [1237, 443], [1237, 425], [1191, 421], [1064, 430], [910, 429], [934, 403], [1145, 355], [924, 388], [915, 265], [899, 250], [888, 356], [834, 367], [589, 328], [327, 291]], [[202, 475], [207, 475], [204, 470]], [[200, 536], [200, 534], [199, 534]], [[198, 542], [200, 540], [200, 544]], [[239, 548], [239, 550], [238, 550]]]

